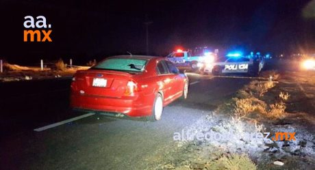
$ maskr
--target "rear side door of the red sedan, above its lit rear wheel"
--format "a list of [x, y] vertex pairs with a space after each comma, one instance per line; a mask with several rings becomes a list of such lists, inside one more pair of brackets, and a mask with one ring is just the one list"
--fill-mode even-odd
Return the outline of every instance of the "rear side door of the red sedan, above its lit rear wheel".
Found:
[[157, 62], [157, 75], [158, 80], [157, 84], [159, 88], [163, 91], [164, 104], [168, 104], [171, 101], [171, 98], [174, 93], [173, 81], [170, 72], [166, 66], [165, 60], [160, 60]]

